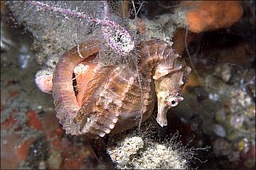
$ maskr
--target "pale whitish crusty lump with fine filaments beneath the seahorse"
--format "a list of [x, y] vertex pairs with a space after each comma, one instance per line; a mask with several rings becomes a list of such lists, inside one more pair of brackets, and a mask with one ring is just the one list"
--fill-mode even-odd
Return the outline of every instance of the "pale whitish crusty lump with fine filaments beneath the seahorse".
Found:
[[[195, 151], [177, 142], [177, 133], [170, 140], [150, 139], [152, 132], [130, 132], [111, 135], [107, 152], [118, 169], [188, 169]], [[202, 149], [205, 150], [205, 149]]]

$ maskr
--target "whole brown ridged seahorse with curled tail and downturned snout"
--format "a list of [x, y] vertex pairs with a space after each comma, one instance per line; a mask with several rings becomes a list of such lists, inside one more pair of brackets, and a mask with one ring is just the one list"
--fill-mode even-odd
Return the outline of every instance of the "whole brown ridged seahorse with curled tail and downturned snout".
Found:
[[81, 52], [84, 58], [73, 48], [56, 65], [52, 91], [56, 116], [66, 133], [103, 137], [106, 133], [122, 132], [148, 119], [155, 102], [158, 105], [156, 121], [161, 127], [166, 126], [166, 113], [183, 100], [180, 93], [188, 82], [191, 69], [184, 60], [166, 42], [143, 41], [131, 53], [139, 56], [137, 67], [131, 62], [98, 63], [94, 75], [84, 82], [84, 88], [76, 96], [73, 70], [97, 54], [100, 45], [101, 41], [80, 44], [87, 48]]

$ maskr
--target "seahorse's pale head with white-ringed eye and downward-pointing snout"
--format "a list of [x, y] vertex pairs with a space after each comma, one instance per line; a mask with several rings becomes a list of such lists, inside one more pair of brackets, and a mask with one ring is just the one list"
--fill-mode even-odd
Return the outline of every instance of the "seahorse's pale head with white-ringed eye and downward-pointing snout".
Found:
[[183, 59], [179, 56], [173, 57], [176, 59], [164, 59], [154, 71], [153, 78], [158, 101], [156, 121], [161, 127], [167, 125], [167, 111], [183, 100], [180, 94], [184, 84], [188, 82], [191, 71]]

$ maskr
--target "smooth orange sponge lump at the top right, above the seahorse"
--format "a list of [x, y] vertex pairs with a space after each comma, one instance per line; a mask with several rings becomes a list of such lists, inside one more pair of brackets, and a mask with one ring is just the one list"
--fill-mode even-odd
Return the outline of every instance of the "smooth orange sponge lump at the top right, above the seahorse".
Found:
[[189, 31], [196, 33], [232, 26], [243, 12], [239, 1], [201, 1], [191, 5], [194, 8], [189, 9], [186, 19]]

